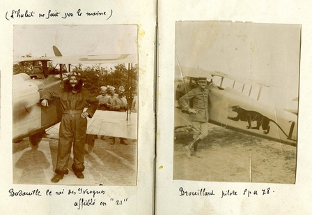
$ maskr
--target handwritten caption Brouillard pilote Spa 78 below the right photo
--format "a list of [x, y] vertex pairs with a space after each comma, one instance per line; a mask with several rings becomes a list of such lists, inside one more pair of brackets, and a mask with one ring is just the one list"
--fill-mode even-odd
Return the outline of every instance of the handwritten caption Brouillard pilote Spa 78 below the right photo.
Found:
[[246, 197], [256, 196], [256, 195], [272, 195], [274, 191], [271, 190], [270, 187], [260, 189], [260, 190], [249, 190], [245, 188], [243, 191], [235, 191], [235, 190], [225, 190], [219, 191], [218, 193], [214, 190], [206, 190], [206, 188], [201, 188], [198, 191], [186, 191], [184, 188], [179, 188], [180, 196], [219, 196], [220, 198], [228, 198], [235, 195], [244, 195]]

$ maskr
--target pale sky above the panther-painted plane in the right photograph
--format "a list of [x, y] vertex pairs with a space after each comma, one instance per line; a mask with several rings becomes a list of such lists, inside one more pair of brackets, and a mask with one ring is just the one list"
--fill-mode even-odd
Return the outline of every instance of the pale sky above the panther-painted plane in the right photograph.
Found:
[[299, 51], [295, 24], [176, 22], [176, 62], [270, 85], [260, 101], [277, 107], [297, 106]]

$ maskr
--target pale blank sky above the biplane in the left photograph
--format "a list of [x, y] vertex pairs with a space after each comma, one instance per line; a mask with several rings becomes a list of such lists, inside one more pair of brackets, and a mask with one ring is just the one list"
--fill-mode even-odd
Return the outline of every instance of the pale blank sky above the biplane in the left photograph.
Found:
[[86, 54], [136, 54], [135, 25], [15, 25], [14, 57], [54, 56], [56, 45], [63, 56]]

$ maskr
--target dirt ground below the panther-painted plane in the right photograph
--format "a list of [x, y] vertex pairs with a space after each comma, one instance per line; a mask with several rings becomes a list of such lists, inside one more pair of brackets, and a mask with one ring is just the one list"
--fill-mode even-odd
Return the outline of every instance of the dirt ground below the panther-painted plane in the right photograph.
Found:
[[297, 147], [210, 124], [198, 144], [203, 158], [187, 158], [192, 131], [175, 133], [173, 179], [295, 184]]

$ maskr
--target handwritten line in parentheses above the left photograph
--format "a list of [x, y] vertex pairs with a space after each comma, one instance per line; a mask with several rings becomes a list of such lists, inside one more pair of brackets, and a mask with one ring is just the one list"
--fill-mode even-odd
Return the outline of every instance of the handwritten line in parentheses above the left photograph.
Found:
[[82, 11], [81, 9], [72, 11], [47, 10], [46, 13], [34, 12], [33, 10], [10, 10], [6, 11], [6, 20], [16, 20], [21, 18], [29, 19], [31, 17], [39, 17], [42, 19], [68, 19], [70, 17], [107, 17], [108, 20], [113, 15], [113, 10], [97, 10], [97, 11]]

